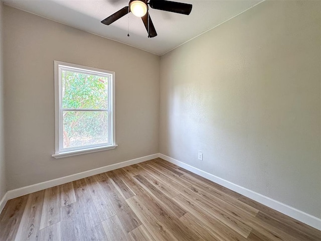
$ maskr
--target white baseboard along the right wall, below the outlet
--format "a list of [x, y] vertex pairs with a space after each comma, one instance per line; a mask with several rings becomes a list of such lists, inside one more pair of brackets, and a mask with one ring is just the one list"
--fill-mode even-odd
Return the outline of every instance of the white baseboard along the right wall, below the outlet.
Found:
[[166, 160], [166, 161], [169, 161], [173, 164], [176, 164], [186, 170], [189, 170], [195, 174], [198, 174], [206, 179], [209, 179], [215, 183], [218, 183], [228, 189], [231, 189], [237, 193], [240, 193], [248, 198], [251, 198], [259, 203], [262, 203], [263, 205], [265, 206], [268, 206], [270, 208], [273, 208], [285, 215], [288, 215], [290, 217], [293, 217], [303, 223], [306, 223], [307, 225], [309, 226], [312, 226], [318, 230], [321, 230], [321, 219], [317, 218], [317, 217], [314, 217], [310, 214], [307, 214], [305, 212], [302, 212], [294, 207], [290, 207], [284, 203], [281, 203], [279, 201], [276, 201], [272, 198], [269, 198], [267, 196], [264, 196], [262, 194], [259, 194], [257, 192], [254, 192], [254, 191], [251, 191], [247, 188], [244, 188], [244, 187], [241, 187], [239, 185], [236, 185], [232, 182], [229, 182], [229, 181], [226, 181], [220, 177], [217, 177], [217, 176], [214, 176], [213, 174], [210, 174], [208, 172], [205, 172], [205, 171], [202, 171], [198, 168], [195, 168], [191, 165], [188, 165], [184, 162], [181, 162], [181, 161], [178, 161], [174, 158], [171, 158], [171, 157], [168, 157], [166, 155], [163, 155], [161, 153], [159, 153], [159, 157]]

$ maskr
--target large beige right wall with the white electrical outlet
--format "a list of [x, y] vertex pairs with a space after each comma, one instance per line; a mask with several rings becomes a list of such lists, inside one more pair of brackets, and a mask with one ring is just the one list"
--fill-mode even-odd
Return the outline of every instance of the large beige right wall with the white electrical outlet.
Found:
[[162, 56], [159, 151], [320, 218], [320, 4], [266, 1]]

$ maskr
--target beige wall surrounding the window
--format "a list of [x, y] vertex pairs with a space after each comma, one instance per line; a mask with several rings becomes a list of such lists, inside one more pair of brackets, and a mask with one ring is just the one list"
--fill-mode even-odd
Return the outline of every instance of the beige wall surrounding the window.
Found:
[[[4, 17], [9, 190], [158, 153], [159, 56], [6, 6]], [[54, 60], [116, 72], [115, 150], [51, 157]]]

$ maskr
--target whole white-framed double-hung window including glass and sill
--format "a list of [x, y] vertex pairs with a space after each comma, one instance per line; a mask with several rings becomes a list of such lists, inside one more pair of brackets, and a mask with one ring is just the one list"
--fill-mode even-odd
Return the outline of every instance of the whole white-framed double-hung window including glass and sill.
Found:
[[115, 72], [55, 61], [55, 158], [115, 144]]

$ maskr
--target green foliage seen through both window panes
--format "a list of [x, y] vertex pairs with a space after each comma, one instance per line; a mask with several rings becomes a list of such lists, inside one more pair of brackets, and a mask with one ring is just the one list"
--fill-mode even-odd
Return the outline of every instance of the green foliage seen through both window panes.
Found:
[[61, 80], [64, 148], [107, 143], [108, 77], [62, 70]]

